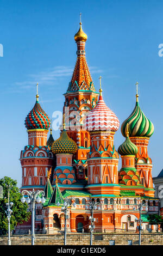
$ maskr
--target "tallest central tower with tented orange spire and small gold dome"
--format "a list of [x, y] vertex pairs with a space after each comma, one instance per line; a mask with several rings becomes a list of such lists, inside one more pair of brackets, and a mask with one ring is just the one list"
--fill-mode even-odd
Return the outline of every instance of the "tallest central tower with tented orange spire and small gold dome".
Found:
[[98, 100], [95, 86], [89, 71], [85, 57], [85, 42], [87, 35], [83, 32], [80, 21], [79, 31], [74, 35], [77, 44], [77, 61], [71, 82], [65, 95], [65, 123], [66, 131], [78, 146], [74, 157], [77, 179], [85, 179], [87, 176], [87, 153], [90, 151], [90, 135], [85, 128], [87, 112], [95, 107]]

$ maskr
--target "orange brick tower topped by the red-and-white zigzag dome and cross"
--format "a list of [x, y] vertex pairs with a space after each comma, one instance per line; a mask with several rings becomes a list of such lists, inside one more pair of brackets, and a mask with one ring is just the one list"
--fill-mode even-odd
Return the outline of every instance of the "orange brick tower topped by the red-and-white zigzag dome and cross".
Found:
[[99, 92], [97, 105], [86, 117], [86, 127], [91, 137], [91, 148], [87, 159], [87, 190], [92, 194], [120, 194], [119, 156], [114, 147], [114, 134], [120, 122], [114, 112], [105, 105], [102, 89]]

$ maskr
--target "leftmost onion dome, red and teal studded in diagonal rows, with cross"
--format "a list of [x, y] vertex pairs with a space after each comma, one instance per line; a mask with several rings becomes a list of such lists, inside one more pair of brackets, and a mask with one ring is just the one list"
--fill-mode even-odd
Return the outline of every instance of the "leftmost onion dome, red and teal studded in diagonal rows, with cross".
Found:
[[36, 103], [33, 109], [26, 117], [25, 125], [27, 130], [30, 129], [49, 129], [50, 119], [48, 115], [43, 111], [39, 103], [39, 95], [36, 94]]

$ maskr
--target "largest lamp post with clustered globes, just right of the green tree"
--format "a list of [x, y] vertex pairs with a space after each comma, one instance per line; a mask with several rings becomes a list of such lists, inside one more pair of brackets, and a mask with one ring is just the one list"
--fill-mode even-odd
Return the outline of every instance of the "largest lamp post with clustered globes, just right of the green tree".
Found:
[[[40, 198], [39, 194], [42, 193], [42, 198]], [[24, 194], [28, 194], [28, 198], [24, 197]], [[28, 190], [23, 190], [22, 191], [23, 197], [21, 198], [22, 203], [27, 203], [32, 206], [32, 245], [35, 243], [35, 203], [42, 203], [44, 204], [46, 199], [43, 197], [45, 196], [44, 191], [28, 191]]]

